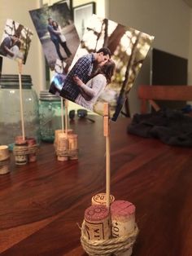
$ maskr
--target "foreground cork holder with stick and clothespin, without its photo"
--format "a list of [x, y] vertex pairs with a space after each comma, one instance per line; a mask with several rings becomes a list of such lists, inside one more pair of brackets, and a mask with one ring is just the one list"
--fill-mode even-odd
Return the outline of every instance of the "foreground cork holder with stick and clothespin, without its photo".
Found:
[[130, 256], [138, 234], [135, 206], [110, 194], [110, 117], [104, 104], [103, 135], [106, 138], [106, 192], [92, 197], [81, 226], [81, 245], [89, 255]]

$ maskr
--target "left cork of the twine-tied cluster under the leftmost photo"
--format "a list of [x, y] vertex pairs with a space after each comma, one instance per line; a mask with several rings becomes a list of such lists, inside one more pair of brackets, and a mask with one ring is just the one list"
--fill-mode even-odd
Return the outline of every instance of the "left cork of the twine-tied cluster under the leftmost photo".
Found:
[[15, 139], [15, 146], [13, 148], [15, 155], [15, 164], [17, 166], [24, 166], [28, 162], [28, 144], [21, 136]]

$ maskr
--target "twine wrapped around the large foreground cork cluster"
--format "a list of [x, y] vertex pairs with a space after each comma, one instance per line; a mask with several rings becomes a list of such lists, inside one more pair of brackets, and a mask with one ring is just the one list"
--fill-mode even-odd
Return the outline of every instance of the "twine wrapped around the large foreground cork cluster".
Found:
[[111, 254], [123, 253], [133, 247], [138, 234], [138, 227], [137, 224], [135, 224], [133, 232], [129, 233], [127, 236], [121, 236], [109, 240], [90, 241], [83, 234], [84, 225], [85, 223], [82, 223], [81, 245], [89, 256], [109, 256]]

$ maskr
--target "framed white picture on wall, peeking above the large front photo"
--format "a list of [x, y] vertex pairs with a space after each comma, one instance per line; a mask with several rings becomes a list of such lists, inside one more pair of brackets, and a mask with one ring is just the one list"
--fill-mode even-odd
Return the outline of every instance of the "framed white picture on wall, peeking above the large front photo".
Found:
[[81, 6], [73, 8], [73, 20], [76, 26], [76, 31], [81, 39], [89, 24], [89, 20], [93, 14], [95, 14], [96, 10], [96, 3], [95, 2], [88, 2]]

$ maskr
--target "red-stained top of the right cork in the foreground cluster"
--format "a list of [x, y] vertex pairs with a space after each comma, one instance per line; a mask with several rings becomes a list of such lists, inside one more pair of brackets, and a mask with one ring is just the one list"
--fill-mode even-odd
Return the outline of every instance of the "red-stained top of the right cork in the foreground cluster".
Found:
[[111, 214], [129, 216], [135, 213], [135, 206], [129, 201], [114, 201], [111, 204]]

